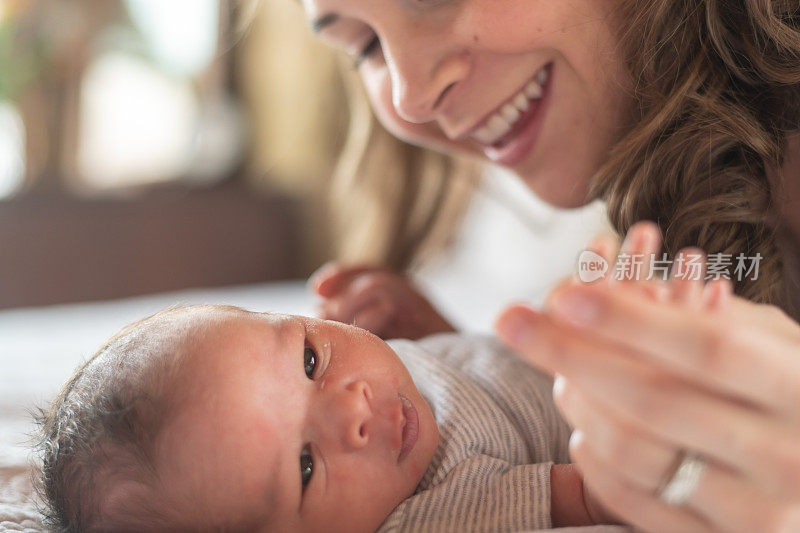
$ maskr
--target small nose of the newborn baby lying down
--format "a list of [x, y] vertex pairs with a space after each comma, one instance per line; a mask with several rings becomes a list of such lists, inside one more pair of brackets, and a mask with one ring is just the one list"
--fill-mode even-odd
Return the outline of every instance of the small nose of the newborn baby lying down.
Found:
[[371, 400], [372, 390], [366, 381], [354, 381], [332, 398], [330, 422], [335, 424], [346, 448], [363, 448], [369, 442], [367, 423], [372, 418]]

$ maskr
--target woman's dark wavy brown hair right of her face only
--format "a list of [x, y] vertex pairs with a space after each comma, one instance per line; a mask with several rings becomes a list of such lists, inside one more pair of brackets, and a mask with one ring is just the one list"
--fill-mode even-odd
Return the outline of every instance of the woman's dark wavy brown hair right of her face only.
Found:
[[760, 254], [736, 292], [791, 307], [767, 172], [800, 129], [800, 2], [620, 0], [616, 20], [640, 118], [590, 194], [621, 234], [656, 221], [670, 256]]

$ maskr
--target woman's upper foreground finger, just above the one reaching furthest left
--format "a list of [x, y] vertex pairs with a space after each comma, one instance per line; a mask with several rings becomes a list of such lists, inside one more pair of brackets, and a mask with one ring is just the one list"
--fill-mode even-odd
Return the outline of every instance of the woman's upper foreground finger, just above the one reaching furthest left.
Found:
[[797, 345], [764, 335], [757, 320], [731, 327], [728, 315], [721, 320], [592, 285], [559, 287], [547, 303], [556, 320], [633, 350], [664, 371], [800, 418]]

